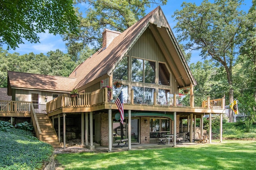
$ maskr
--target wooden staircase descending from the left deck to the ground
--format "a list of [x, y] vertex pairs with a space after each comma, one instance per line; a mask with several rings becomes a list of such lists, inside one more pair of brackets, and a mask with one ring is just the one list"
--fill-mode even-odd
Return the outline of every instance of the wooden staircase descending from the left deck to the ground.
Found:
[[58, 136], [56, 131], [52, 127], [52, 121], [47, 114], [36, 114], [41, 132], [42, 141], [49, 143], [53, 148], [60, 148], [60, 142], [58, 141]]

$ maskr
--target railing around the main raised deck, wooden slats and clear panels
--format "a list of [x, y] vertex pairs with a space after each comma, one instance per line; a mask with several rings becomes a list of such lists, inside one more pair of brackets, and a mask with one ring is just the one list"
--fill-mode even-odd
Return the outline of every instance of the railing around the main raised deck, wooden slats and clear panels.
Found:
[[[192, 98], [192, 101], [190, 102], [190, 96], [181, 96], [177, 94], [171, 94], [169, 96], [169, 100], [164, 101], [164, 103], [159, 102], [159, 98], [157, 97], [156, 92], [154, 92], [154, 101], [152, 102], [136, 102], [138, 98], [134, 96], [133, 89], [131, 90], [131, 98], [134, 98], [131, 102], [127, 102], [124, 104], [132, 104], [132, 105], [153, 105], [153, 106], [166, 106], [166, 107], [194, 107], [194, 105], [190, 106], [190, 103], [194, 102], [194, 98]], [[182, 101], [182, 97], [188, 98], [186, 100], [186, 104], [180, 102]], [[70, 94], [64, 94], [62, 96], [59, 96], [58, 98], [55, 98], [54, 100], [47, 103], [47, 113], [51, 111], [55, 111], [60, 108], [64, 107], [91, 107], [91, 106], [97, 106], [104, 103], [110, 102], [108, 99], [108, 89], [102, 88], [99, 90], [96, 90], [91, 93], [79, 93], [76, 97], [71, 97]], [[210, 97], [206, 101], [202, 102], [203, 108], [224, 108], [225, 105], [225, 98], [216, 99], [216, 100], [210, 100]], [[208, 107], [209, 106], [209, 107]]]

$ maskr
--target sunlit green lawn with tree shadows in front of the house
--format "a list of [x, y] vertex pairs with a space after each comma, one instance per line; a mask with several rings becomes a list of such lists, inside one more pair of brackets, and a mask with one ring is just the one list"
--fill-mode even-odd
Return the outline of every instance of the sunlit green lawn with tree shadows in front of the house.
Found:
[[128, 150], [110, 153], [58, 154], [65, 170], [254, 170], [255, 141]]

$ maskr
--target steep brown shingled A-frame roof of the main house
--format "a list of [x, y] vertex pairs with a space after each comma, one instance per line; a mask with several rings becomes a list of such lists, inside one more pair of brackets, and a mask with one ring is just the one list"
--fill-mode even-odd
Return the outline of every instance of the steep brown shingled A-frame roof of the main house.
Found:
[[144, 18], [118, 35], [107, 48], [98, 50], [90, 58], [77, 66], [69, 76], [76, 78], [75, 88], [80, 88], [106, 74], [109, 76], [115, 66], [128, 53], [148, 27], [152, 30], [163, 53], [166, 56], [172, 56], [172, 59], [168, 59], [167, 61], [172, 66], [172, 72], [180, 88], [190, 86], [191, 83], [196, 85], [196, 81], [188, 68], [188, 64], [170, 29], [168, 21], [162, 9], [158, 6]]

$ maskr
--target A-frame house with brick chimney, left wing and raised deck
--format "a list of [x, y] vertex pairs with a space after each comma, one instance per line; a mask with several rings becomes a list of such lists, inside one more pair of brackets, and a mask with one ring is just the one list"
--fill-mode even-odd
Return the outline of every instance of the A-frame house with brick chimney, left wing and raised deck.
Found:
[[[212, 114], [222, 115], [224, 98], [208, 97], [202, 106], [194, 106], [196, 81], [160, 7], [123, 33], [105, 29], [102, 37], [103, 47], [68, 78], [8, 72], [8, 95], [20, 103], [14, 104], [15, 113], [0, 114], [31, 117], [37, 137], [46, 142], [52, 140], [44, 135], [53, 125], [55, 147], [60, 146], [58, 142], [65, 147], [67, 138], [80, 138], [82, 146], [93, 149], [94, 143], [98, 143], [110, 151], [113, 123], [120, 121], [112, 101], [120, 90], [125, 123], [120, 127], [123, 134], [118, 135], [128, 139], [129, 149], [131, 144], [158, 143], [159, 135], [183, 132], [182, 119], [188, 119], [192, 142], [196, 136], [193, 119], [200, 118], [202, 134], [203, 115], [208, 114], [210, 121]], [[121, 88], [113, 86], [116, 81], [122, 82]], [[104, 86], [113, 89], [108, 92]], [[72, 89], [78, 90], [77, 97], [68, 94]], [[189, 89], [190, 93], [179, 94], [180, 89]], [[182, 103], [183, 98], [186, 103]], [[39, 108], [45, 104], [46, 108]], [[17, 109], [20, 112], [16, 113]], [[46, 119], [50, 123], [45, 123]]]

